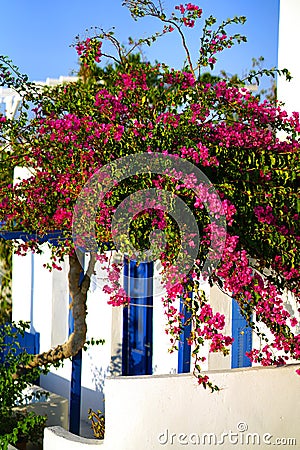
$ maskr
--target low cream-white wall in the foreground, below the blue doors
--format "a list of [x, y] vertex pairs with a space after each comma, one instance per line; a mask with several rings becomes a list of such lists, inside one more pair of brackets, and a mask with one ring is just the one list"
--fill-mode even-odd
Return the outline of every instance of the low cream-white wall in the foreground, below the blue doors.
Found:
[[[288, 438], [296, 439], [297, 443], [289, 446], [282, 440], [285, 448], [299, 448], [300, 382], [295, 373], [299, 367], [207, 372], [221, 389], [215, 393], [198, 386], [191, 375], [107, 379], [106, 435], [102, 448], [229, 450], [246, 447], [248, 439], [250, 443], [255, 439], [258, 444], [259, 439], [260, 445], [249, 448], [263, 449], [274, 447], [275, 439]], [[205, 436], [207, 433], [212, 435]], [[61, 429], [48, 429], [44, 450], [99, 448], [96, 441], [81, 442], [79, 447], [79, 443], [74, 443], [76, 437], [72, 436], [73, 442], [69, 438], [70, 434]], [[180, 443], [180, 439], [186, 444]], [[201, 443], [204, 440], [206, 445], [195, 445], [197, 439]], [[219, 445], [208, 445], [208, 439]]]

